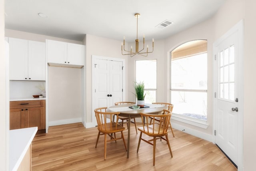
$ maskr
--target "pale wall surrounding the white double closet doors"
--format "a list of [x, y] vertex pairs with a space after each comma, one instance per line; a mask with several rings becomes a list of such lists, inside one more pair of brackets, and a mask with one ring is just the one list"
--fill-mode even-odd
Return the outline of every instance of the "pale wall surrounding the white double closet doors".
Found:
[[[126, 66], [124, 67], [128, 68], [127, 57], [121, 54], [121, 42], [122, 40], [118, 41], [86, 34], [86, 123], [92, 123], [92, 116], [94, 116], [94, 109], [92, 109], [92, 55], [125, 59]], [[128, 72], [126, 72], [125, 77], [127, 83]]]

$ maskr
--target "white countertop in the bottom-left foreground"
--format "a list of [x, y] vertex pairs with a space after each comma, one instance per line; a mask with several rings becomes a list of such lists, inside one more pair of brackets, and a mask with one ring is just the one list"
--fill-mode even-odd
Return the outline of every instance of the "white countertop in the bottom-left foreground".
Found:
[[9, 132], [10, 171], [16, 171], [20, 166], [30, 144], [36, 135], [37, 127], [13, 129]]

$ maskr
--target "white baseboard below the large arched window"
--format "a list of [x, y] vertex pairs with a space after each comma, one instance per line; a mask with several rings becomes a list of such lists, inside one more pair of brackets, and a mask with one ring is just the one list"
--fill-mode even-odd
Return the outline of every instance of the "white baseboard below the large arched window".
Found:
[[186, 132], [190, 135], [194, 135], [196, 137], [205, 139], [207, 141], [210, 141], [212, 143], [214, 143], [214, 135], [210, 135], [210, 134], [206, 134], [206, 133], [202, 133], [200, 131], [196, 131], [194, 129], [188, 128], [188, 127], [184, 127], [182, 125], [176, 124], [176, 123], [172, 123], [172, 127], [174, 129], [178, 129], [180, 131]]

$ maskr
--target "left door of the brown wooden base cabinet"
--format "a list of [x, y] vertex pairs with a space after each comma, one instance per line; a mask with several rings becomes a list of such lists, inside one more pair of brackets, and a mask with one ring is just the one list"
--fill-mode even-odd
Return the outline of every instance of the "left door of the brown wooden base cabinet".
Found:
[[10, 109], [10, 130], [25, 127], [25, 109]]

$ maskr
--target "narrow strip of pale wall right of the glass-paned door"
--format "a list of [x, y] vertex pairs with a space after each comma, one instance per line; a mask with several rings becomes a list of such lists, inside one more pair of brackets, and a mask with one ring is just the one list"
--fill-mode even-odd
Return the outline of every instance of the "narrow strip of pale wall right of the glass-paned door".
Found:
[[244, 171], [255, 170], [256, 156], [256, 1], [245, 0], [244, 18]]

